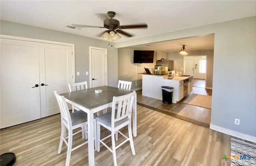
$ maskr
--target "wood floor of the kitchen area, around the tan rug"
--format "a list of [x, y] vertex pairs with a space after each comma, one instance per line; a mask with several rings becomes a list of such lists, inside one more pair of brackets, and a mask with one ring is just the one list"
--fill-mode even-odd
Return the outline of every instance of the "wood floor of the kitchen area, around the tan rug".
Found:
[[211, 109], [183, 103], [183, 101], [190, 97], [192, 93], [211, 96], [212, 89], [193, 87], [193, 90], [190, 94], [188, 94], [178, 103], [172, 104], [163, 103], [162, 100], [142, 96], [142, 90], [138, 90], [137, 103], [138, 105], [147, 107], [154, 111], [165, 113], [166, 115], [170, 115], [172, 117], [176, 117], [178, 119], [182, 119], [184, 121], [188, 121], [209, 128], [211, 121]]

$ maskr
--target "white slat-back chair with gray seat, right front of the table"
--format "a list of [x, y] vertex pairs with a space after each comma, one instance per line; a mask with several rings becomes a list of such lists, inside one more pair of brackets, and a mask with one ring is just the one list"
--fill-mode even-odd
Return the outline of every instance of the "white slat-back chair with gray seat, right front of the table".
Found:
[[[114, 166], [117, 166], [116, 149], [122, 146], [125, 142], [130, 141], [132, 154], [135, 155], [134, 144], [132, 140], [132, 125], [131, 125], [131, 114], [132, 114], [132, 104], [134, 102], [134, 95], [135, 95], [135, 91], [127, 95], [113, 97], [112, 111], [96, 117], [97, 151], [98, 152], [100, 151], [100, 143], [106, 146], [106, 148], [108, 148], [108, 150], [110, 150], [110, 152], [113, 153]], [[118, 105], [118, 109], [115, 109], [116, 105]], [[100, 126], [103, 126], [106, 129], [110, 130], [111, 134], [100, 139]], [[125, 126], [128, 126], [128, 134], [129, 134], [128, 137], [119, 131], [121, 128]], [[122, 136], [124, 136], [124, 138], [126, 138], [123, 142], [121, 142], [117, 146], [115, 143], [116, 132], [120, 133]], [[103, 142], [109, 137], [111, 137], [112, 149]]]

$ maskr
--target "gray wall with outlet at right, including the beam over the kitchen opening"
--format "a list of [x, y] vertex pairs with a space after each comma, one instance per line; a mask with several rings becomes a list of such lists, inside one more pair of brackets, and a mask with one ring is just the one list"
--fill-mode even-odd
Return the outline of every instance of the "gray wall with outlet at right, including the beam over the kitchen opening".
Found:
[[207, 34], [214, 34], [210, 126], [256, 141], [256, 16], [123, 41], [116, 48]]

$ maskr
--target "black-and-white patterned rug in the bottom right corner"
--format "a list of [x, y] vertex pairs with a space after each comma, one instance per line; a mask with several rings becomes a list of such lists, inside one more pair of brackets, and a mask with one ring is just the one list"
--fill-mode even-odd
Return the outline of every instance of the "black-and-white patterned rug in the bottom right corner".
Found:
[[[256, 145], [231, 138], [231, 166], [255, 166]], [[226, 159], [227, 160], [227, 159]]]

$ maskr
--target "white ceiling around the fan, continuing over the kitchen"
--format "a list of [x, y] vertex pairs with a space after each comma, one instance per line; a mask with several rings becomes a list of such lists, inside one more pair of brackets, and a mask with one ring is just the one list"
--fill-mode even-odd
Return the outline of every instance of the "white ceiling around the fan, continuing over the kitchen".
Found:
[[[66, 25], [85, 24], [103, 26], [104, 17], [108, 11], [116, 12], [115, 19], [120, 25], [148, 24], [148, 29], [126, 29], [125, 32], [134, 34], [132, 38], [122, 36], [116, 42], [126, 41], [186, 28], [214, 24], [239, 18], [256, 16], [256, 1], [36, 1], [36, 0], [1, 0], [0, 18], [10, 22], [27, 24], [41, 28], [77, 34], [90, 38], [96, 37], [105, 28], [82, 28], [73, 30]], [[186, 49], [213, 49], [214, 35], [199, 36], [161, 43], [150, 43], [151, 46], [136, 46], [140, 49], [154, 49], [155, 51], [177, 51], [182, 45]], [[155, 45], [155, 46], [154, 46]]]

